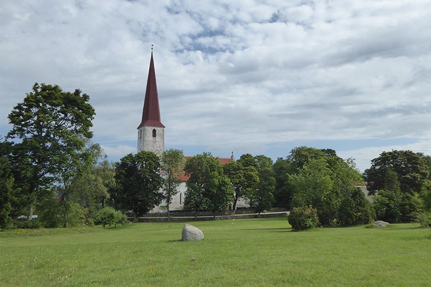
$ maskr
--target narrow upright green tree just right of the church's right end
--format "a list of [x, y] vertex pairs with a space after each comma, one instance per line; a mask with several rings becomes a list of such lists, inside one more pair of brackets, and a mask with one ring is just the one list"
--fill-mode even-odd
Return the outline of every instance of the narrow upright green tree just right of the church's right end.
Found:
[[265, 155], [254, 157], [259, 181], [255, 185], [254, 191], [250, 195], [250, 207], [259, 214], [272, 206], [274, 202], [275, 189], [274, 170], [272, 169], [272, 159]]

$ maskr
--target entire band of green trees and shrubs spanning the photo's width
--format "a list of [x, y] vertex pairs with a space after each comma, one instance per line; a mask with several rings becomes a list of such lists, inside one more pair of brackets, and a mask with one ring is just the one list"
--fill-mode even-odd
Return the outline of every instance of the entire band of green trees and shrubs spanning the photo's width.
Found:
[[[383, 152], [363, 175], [352, 159], [307, 146], [275, 163], [243, 154], [222, 165], [206, 152], [186, 162], [177, 149], [161, 157], [127, 154], [111, 163], [91, 142], [94, 116], [88, 95], [45, 84], [35, 84], [13, 108], [12, 129], [0, 142], [0, 229], [116, 226], [129, 212], [136, 221], [162, 200], [169, 218], [183, 174], [189, 176], [189, 211], [216, 215], [228, 205], [235, 209], [242, 198], [259, 213], [273, 206], [291, 210], [295, 229], [375, 219], [430, 224], [431, 158], [421, 153]], [[358, 188], [364, 185], [372, 202]]]

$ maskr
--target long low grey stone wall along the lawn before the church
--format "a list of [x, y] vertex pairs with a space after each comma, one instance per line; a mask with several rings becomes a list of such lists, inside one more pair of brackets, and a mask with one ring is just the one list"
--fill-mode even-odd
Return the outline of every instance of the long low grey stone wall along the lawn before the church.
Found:
[[[209, 221], [209, 220], [226, 220], [242, 218], [267, 218], [267, 217], [285, 217], [287, 212], [272, 212], [261, 214], [241, 214], [241, 215], [216, 215], [195, 217], [171, 217], [170, 221]], [[167, 217], [140, 217], [139, 222], [167, 222]]]

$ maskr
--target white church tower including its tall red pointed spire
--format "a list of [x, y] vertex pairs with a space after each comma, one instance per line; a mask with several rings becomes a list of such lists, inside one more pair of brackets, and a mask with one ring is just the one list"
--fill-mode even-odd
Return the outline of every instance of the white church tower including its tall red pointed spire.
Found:
[[151, 51], [142, 121], [138, 127], [138, 152], [142, 150], [152, 151], [159, 156], [164, 151], [164, 126], [160, 120], [153, 51]]

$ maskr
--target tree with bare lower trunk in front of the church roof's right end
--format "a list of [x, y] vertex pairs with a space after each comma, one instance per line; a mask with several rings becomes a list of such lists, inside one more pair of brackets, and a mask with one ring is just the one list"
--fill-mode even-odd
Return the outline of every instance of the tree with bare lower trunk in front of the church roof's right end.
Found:
[[229, 178], [233, 187], [233, 205], [236, 210], [236, 203], [239, 198], [250, 198], [250, 195], [259, 182], [259, 174], [256, 167], [250, 165], [247, 155], [241, 156], [237, 161], [231, 161], [223, 165], [224, 174]]

